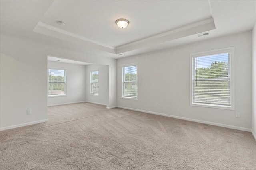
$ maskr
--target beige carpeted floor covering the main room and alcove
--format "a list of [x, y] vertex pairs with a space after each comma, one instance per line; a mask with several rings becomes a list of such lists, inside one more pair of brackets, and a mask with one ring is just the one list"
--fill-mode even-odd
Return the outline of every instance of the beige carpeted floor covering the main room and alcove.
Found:
[[0, 132], [0, 169], [256, 169], [250, 132], [90, 103]]

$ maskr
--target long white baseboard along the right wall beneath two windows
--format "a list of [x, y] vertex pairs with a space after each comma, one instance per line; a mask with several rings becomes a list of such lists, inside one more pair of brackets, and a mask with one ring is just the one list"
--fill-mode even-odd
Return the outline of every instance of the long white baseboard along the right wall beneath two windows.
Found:
[[140, 111], [140, 112], [144, 112], [144, 113], [150, 113], [150, 114], [154, 114], [154, 115], [161, 115], [161, 116], [172, 117], [172, 118], [176, 118], [176, 119], [182, 119], [182, 120], [187, 120], [187, 121], [194, 121], [194, 122], [204, 123], [204, 124], [208, 124], [208, 125], [227, 127], [227, 128], [230, 128], [230, 129], [236, 129], [236, 130], [241, 130], [241, 131], [248, 131], [248, 132], [252, 131], [251, 129], [245, 128], [245, 127], [225, 125], [225, 124], [221, 124], [221, 123], [214, 123], [214, 122], [210, 122], [210, 121], [202, 121], [202, 120], [197, 120], [197, 119], [190, 119], [190, 118], [186, 118], [186, 117], [167, 115], [167, 114], [164, 114], [164, 113], [157, 113], [157, 112], [153, 112], [153, 111], [146, 111], [146, 110], [140, 110], [140, 109], [132, 109], [132, 108], [128, 108], [128, 107], [121, 107], [121, 106], [117, 106], [117, 107], [118, 108], [122, 108], [122, 109], [128, 109], [128, 110]]

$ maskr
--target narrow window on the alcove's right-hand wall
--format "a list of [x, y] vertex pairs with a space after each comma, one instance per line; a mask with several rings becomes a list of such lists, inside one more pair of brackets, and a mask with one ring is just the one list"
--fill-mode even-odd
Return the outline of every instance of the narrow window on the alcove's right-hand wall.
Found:
[[99, 70], [90, 70], [90, 94], [99, 95]]

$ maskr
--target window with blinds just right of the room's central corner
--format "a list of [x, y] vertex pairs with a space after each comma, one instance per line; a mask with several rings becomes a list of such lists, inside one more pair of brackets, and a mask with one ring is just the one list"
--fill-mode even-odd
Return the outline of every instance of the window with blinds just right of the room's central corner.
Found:
[[137, 99], [137, 64], [122, 65], [122, 98]]

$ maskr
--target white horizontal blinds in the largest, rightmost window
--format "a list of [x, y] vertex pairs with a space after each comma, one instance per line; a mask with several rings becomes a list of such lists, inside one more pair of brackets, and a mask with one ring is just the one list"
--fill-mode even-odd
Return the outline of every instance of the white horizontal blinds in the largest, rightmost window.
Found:
[[193, 103], [231, 106], [231, 53], [193, 58]]

